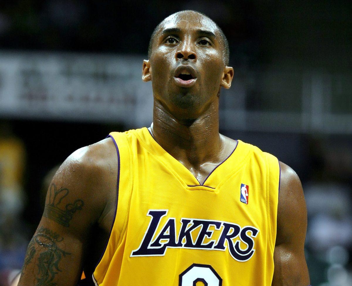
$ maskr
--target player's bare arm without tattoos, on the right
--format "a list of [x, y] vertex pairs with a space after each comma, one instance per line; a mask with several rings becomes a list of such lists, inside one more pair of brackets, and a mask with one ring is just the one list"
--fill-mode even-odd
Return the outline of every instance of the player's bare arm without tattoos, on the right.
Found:
[[297, 174], [280, 162], [280, 194], [277, 235], [274, 250], [272, 286], [308, 286], [309, 274], [304, 257], [307, 208]]

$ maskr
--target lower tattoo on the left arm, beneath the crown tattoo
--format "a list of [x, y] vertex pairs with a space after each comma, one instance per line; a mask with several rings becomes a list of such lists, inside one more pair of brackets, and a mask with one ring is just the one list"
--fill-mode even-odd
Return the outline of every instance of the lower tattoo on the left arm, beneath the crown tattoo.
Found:
[[[36, 276], [36, 286], [56, 286], [53, 282], [55, 275], [62, 270], [59, 268], [59, 262], [62, 257], [70, 255], [70, 253], [59, 248], [57, 242], [62, 242], [63, 237], [58, 235], [44, 226], [41, 226], [37, 233], [33, 236], [28, 245], [26, 259], [23, 265], [22, 273], [25, 273], [27, 265], [32, 262], [32, 259], [38, 251], [37, 259], [38, 273]], [[40, 248], [38, 248], [38, 245]], [[37, 247], [37, 249], [36, 249]]]

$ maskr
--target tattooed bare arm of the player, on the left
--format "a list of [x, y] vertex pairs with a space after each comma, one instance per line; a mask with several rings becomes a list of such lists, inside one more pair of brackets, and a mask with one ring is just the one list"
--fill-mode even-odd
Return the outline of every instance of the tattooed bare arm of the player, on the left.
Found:
[[99, 154], [101, 144], [74, 152], [52, 179], [18, 285], [74, 286], [80, 279], [90, 231], [105, 216], [106, 193], [115, 179]]

